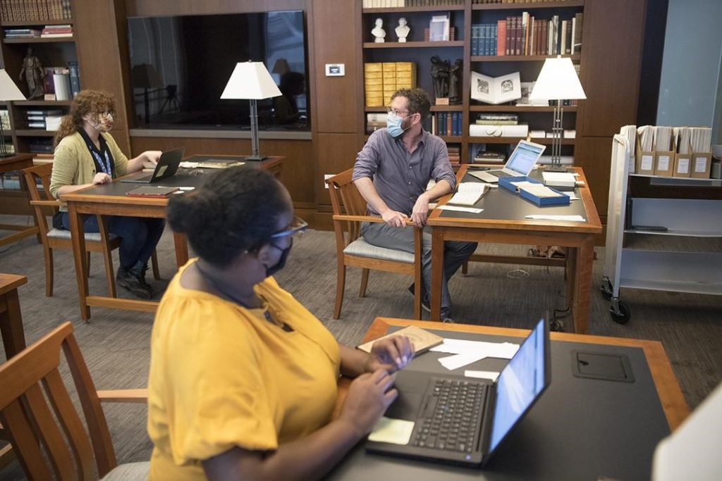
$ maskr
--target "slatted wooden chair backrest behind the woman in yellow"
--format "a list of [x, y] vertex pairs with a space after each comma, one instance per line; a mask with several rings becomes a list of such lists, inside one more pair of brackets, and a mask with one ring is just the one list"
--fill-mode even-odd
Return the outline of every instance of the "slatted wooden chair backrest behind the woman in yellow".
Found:
[[[90, 436], [58, 371], [61, 348]], [[0, 365], [0, 386], [0, 420], [31, 480], [53, 475], [58, 480], [92, 480], [96, 467], [100, 477], [116, 467], [108, 424], [70, 322]]]

